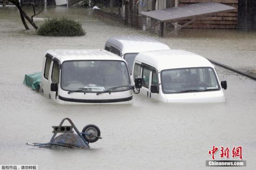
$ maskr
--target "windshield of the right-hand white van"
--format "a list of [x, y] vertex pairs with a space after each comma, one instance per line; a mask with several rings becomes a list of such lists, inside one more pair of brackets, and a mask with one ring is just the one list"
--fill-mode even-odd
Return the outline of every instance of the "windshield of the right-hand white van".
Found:
[[161, 80], [164, 94], [220, 90], [215, 71], [210, 67], [163, 70]]

